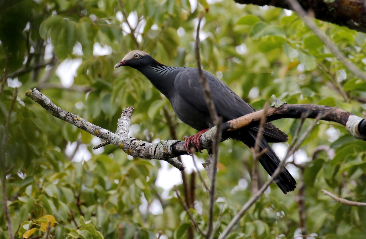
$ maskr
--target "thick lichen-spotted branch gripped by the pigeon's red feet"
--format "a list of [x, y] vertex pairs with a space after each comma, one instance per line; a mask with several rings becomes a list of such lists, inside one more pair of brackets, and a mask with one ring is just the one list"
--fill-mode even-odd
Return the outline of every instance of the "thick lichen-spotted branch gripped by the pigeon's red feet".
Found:
[[[40, 104], [46, 110], [48, 110], [53, 116], [60, 118], [72, 125], [75, 125], [86, 132], [93, 134], [101, 139], [104, 139], [111, 144], [119, 147], [128, 155], [133, 157], [145, 158], [145, 159], [158, 159], [165, 160], [171, 163], [174, 167], [183, 170], [183, 165], [172, 158], [179, 155], [187, 154], [184, 148], [184, 141], [177, 140], [162, 140], [159, 143], [151, 144], [142, 140], [137, 140], [132, 137], [121, 137], [115, 133], [112, 133], [99, 126], [93, 125], [90, 122], [69, 113], [51, 102], [45, 95], [41, 94], [38, 90], [30, 90], [26, 92], [26, 96], [33, 99]], [[322, 105], [281, 105], [280, 107], [269, 107], [267, 110], [267, 122], [278, 120], [280, 118], [301, 118], [303, 113], [306, 113], [306, 118], [315, 118], [319, 113], [324, 115], [322, 120], [337, 122], [346, 126], [347, 131], [356, 139], [366, 139], [366, 121], [361, 117], [352, 115], [351, 113], [338, 109], [336, 107], [322, 106]], [[124, 125], [130, 124], [130, 117], [132, 114], [132, 107], [123, 111], [124, 119], [126, 121]], [[225, 139], [225, 133], [227, 131], [236, 130], [244, 127], [251, 128], [259, 125], [259, 121], [262, 118], [263, 111], [255, 111], [253, 113], [244, 115], [231, 121], [227, 121], [222, 124], [222, 138]], [[127, 127], [128, 128], [128, 127]], [[209, 129], [201, 136], [201, 148], [212, 148], [212, 141], [214, 139], [213, 132], [216, 131], [216, 127]], [[128, 134], [125, 134], [128, 135]]]

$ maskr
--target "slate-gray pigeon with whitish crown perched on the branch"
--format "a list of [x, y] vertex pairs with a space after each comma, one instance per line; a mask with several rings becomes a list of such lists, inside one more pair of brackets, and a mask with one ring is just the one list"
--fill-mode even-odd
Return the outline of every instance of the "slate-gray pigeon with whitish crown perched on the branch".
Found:
[[[197, 68], [168, 67], [158, 63], [149, 54], [142, 51], [131, 51], [115, 67], [122, 65], [130, 66], [142, 72], [169, 99], [174, 112], [185, 124], [197, 130], [213, 126], [203, 96]], [[255, 111], [251, 105], [236, 95], [223, 81], [209, 72], [203, 71], [203, 73], [209, 83], [217, 114], [223, 117], [224, 122]], [[249, 130], [236, 130], [229, 134], [229, 137], [253, 147], [257, 131], [258, 127]], [[276, 170], [280, 160], [267, 142], [284, 142], [287, 140], [287, 135], [273, 124], [267, 123], [265, 125], [261, 148], [268, 148], [269, 150], [259, 159], [259, 162], [270, 175]], [[294, 178], [286, 168], [277, 177], [276, 183], [284, 193], [292, 191], [296, 187]]]

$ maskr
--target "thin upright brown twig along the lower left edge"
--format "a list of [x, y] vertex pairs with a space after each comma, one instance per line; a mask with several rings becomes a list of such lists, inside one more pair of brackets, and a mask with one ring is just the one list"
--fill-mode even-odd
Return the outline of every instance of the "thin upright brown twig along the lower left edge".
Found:
[[6, 148], [7, 148], [7, 144], [8, 144], [8, 130], [9, 130], [9, 126], [10, 126], [10, 117], [11, 117], [11, 112], [13, 111], [14, 108], [14, 104], [15, 104], [15, 100], [16, 100], [16, 94], [18, 93], [18, 87], [15, 87], [14, 92], [13, 92], [13, 96], [10, 102], [10, 107], [9, 107], [9, 111], [8, 111], [8, 115], [6, 118], [6, 122], [5, 122], [5, 127], [4, 127], [4, 134], [3, 134], [3, 141], [1, 143], [1, 152], [0, 152], [0, 166], [1, 166], [1, 194], [3, 196], [2, 200], [3, 200], [3, 210], [4, 210], [4, 216], [5, 216], [5, 220], [6, 220], [6, 224], [8, 226], [8, 231], [9, 231], [9, 238], [10, 239], [14, 239], [14, 232], [13, 232], [13, 227], [11, 224], [11, 217], [10, 217], [10, 212], [8, 209], [8, 199], [7, 199], [7, 193], [6, 193], [6, 163], [5, 163], [5, 152], [6, 152]]

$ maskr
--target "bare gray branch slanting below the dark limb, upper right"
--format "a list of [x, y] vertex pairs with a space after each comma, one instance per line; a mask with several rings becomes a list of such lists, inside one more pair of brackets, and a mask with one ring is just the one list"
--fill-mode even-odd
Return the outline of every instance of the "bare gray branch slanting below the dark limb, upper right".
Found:
[[365, 72], [360, 71], [352, 62], [348, 61], [346, 56], [330, 41], [330, 39], [315, 25], [314, 21], [309, 17], [307, 12], [301, 7], [297, 0], [286, 0], [290, 7], [296, 11], [306, 25], [324, 42], [326, 46], [339, 58], [339, 60], [357, 77], [366, 80]]

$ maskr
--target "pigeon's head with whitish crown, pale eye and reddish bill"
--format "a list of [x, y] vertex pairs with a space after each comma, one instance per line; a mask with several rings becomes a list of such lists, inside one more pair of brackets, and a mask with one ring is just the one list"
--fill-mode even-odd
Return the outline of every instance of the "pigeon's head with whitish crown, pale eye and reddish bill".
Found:
[[122, 61], [117, 63], [115, 65], [115, 68], [122, 67], [124, 65], [127, 65], [128, 67], [132, 67], [135, 69], [141, 69], [143, 67], [147, 67], [149, 65], [158, 64], [152, 56], [147, 54], [146, 52], [140, 51], [140, 50], [133, 50], [131, 52], [128, 52], [126, 56], [123, 57]]

